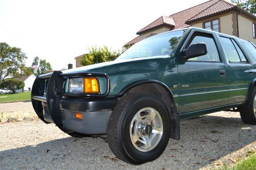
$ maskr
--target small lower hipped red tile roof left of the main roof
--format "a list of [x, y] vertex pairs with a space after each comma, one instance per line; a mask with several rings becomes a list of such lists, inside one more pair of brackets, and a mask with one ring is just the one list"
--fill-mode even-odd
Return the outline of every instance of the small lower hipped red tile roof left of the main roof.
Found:
[[146, 27], [138, 31], [136, 34], [141, 34], [162, 26], [168, 26], [170, 28], [174, 28], [175, 27], [174, 18], [168, 17], [168, 16], [161, 16], [160, 18], [156, 19], [155, 21], [153, 21], [152, 23], [150, 23], [149, 25], [147, 25]]

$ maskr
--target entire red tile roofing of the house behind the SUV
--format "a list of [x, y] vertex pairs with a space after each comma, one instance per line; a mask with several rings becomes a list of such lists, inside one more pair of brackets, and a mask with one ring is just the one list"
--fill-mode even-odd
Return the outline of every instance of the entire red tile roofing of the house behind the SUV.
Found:
[[[242, 13], [253, 17], [256, 16], [239, 8], [236, 4], [232, 4], [225, 0], [210, 0], [205, 3], [199, 4], [195, 7], [188, 8], [186, 10], [177, 12], [175, 14], [167, 16], [161, 16], [154, 22], [150, 23], [136, 34], [141, 34], [162, 26], [169, 26], [172, 30], [182, 29], [190, 27], [189, 23], [198, 21], [203, 18], [215, 16], [228, 11], [241, 11]], [[125, 45], [133, 44], [140, 41], [140, 37], [136, 37], [132, 41], [126, 43]]]

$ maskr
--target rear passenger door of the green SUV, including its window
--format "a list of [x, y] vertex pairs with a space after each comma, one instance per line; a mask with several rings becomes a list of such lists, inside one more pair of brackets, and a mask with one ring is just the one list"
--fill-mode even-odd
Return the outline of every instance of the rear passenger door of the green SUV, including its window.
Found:
[[220, 41], [228, 63], [228, 104], [244, 102], [250, 82], [255, 76], [253, 67], [233, 38], [220, 36]]

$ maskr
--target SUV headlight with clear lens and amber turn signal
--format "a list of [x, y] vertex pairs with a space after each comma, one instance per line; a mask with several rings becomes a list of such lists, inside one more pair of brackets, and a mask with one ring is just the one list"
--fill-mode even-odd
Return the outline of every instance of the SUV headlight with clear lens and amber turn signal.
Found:
[[68, 82], [70, 93], [99, 93], [99, 81], [95, 77], [71, 78]]

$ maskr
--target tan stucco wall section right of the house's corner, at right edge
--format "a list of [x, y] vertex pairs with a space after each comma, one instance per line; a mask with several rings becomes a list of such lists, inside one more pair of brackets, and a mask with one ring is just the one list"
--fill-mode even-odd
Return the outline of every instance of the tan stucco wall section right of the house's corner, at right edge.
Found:
[[247, 41], [251, 41], [254, 44], [256, 44], [256, 39], [253, 38], [253, 35], [252, 35], [252, 20], [249, 20], [247, 17], [241, 14], [238, 15], [238, 31], [239, 31], [239, 38], [242, 38]]

